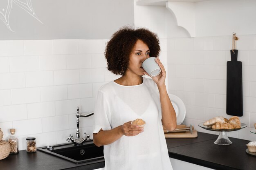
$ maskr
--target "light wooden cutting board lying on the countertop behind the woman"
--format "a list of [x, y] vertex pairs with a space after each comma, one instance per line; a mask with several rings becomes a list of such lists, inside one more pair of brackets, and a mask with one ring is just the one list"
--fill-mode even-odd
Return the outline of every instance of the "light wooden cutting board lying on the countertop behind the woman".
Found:
[[[164, 128], [164, 127], [163, 127]], [[186, 125], [177, 125], [176, 129], [186, 128]], [[194, 127], [193, 127], [194, 129]], [[164, 131], [166, 129], [164, 128]], [[198, 132], [196, 130], [192, 130], [192, 134], [190, 131], [187, 132], [171, 132], [171, 133], [164, 133], [166, 138], [195, 138], [198, 137]]]

